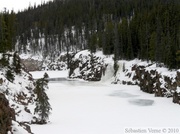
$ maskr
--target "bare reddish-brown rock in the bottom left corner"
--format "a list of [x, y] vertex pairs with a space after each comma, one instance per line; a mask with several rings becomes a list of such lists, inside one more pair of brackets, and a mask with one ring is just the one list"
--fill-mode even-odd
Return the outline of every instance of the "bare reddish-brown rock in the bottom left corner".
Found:
[[0, 93], [0, 134], [11, 131], [12, 120], [15, 120], [15, 111], [10, 108], [5, 95]]

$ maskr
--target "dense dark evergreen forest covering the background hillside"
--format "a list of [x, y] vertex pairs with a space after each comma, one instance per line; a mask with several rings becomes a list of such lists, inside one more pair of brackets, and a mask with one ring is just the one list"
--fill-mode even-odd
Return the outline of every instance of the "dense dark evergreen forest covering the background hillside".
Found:
[[180, 68], [179, 0], [54, 0], [16, 14], [18, 51], [102, 49]]

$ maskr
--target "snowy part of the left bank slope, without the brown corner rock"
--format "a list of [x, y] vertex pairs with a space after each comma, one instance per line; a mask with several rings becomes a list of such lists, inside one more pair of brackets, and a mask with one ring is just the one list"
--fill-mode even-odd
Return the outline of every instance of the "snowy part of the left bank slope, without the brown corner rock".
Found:
[[[0, 54], [0, 59], [2, 59]], [[0, 68], [0, 92], [5, 94], [9, 101], [9, 106], [15, 110], [16, 120], [12, 122], [13, 134], [26, 134], [28, 133], [23, 127], [23, 124], [19, 123], [31, 123], [33, 120], [33, 107], [34, 107], [34, 84], [32, 76], [22, 68], [20, 74], [14, 72], [13, 67], [13, 55], [8, 54], [5, 58], [8, 59], [8, 66], [1, 64]], [[7, 79], [7, 70], [11, 69], [14, 77], [13, 81]], [[25, 123], [25, 124], [26, 124]]]

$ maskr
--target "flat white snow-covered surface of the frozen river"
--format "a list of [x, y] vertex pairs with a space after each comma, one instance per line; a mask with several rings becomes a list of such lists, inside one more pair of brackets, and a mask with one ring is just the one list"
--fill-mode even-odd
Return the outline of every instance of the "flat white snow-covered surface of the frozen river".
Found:
[[[52, 78], [66, 77], [68, 72], [47, 73]], [[44, 72], [32, 74], [38, 78]], [[179, 127], [180, 106], [172, 99], [144, 93], [138, 86], [63, 80], [50, 82], [47, 94], [50, 122], [31, 125], [35, 134], [123, 134], [131, 128]]]

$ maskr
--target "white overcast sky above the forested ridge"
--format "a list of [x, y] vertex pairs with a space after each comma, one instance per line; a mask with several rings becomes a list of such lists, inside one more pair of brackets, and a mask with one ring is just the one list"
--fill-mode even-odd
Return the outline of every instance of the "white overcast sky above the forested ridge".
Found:
[[25, 8], [28, 8], [29, 5], [34, 6], [44, 3], [47, 1], [52, 1], [52, 0], [0, 0], [0, 11], [3, 11], [4, 8], [8, 9], [11, 11], [12, 9], [17, 12], [18, 10], [24, 10]]

